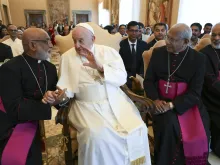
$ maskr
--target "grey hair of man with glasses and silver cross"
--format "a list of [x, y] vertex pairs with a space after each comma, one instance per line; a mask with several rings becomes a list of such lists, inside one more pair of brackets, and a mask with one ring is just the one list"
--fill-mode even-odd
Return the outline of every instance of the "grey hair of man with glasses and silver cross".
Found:
[[180, 29], [178, 35], [182, 39], [190, 40], [191, 37], [192, 37], [191, 28], [188, 25], [184, 24], [184, 23], [175, 24], [170, 28], [170, 30], [172, 30], [172, 29]]

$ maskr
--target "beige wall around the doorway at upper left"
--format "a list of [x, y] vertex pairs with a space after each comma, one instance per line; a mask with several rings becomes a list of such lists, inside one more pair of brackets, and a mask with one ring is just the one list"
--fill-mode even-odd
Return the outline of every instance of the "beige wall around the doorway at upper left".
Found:
[[[26, 26], [24, 10], [47, 10], [46, 0], [8, 0], [11, 11], [12, 23], [17, 26]], [[46, 19], [48, 16], [46, 12]]]

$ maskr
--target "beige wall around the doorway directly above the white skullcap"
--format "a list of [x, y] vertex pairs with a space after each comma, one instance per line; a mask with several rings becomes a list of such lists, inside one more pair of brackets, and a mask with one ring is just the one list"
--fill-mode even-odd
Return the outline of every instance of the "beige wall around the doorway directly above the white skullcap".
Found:
[[73, 20], [72, 10], [91, 10], [92, 22], [98, 24], [98, 0], [70, 0], [70, 20]]

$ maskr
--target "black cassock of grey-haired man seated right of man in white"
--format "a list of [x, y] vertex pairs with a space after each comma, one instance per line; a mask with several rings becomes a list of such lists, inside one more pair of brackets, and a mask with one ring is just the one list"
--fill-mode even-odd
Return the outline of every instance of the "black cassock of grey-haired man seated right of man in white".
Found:
[[[188, 53], [186, 54], [187, 51]], [[144, 80], [144, 89], [147, 97], [152, 100], [171, 101], [174, 104], [173, 110], [169, 110], [164, 114], [153, 115], [155, 163], [156, 165], [185, 165], [188, 164], [186, 161], [191, 161], [189, 159], [186, 160], [185, 151], [183, 150], [183, 136], [179, 117], [187, 114], [188, 110], [191, 110], [195, 106], [198, 107], [197, 114], [199, 114], [201, 128], [203, 128], [204, 132], [203, 140], [206, 142], [204, 146], [206, 152], [203, 160], [207, 161], [209, 118], [200, 99], [205, 75], [205, 56], [191, 48], [187, 48], [179, 54], [170, 53], [169, 56], [171, 74], [176, 70], [185, 56], [179, 69], [170, 78], [172, 87], [168, 91], [171, 91], [175, 85], [175, 92], [177, 92], [177, 95], [173, 99], [165, 98], [159, 90], [166, 90], [166, 83], [162, 86], [159, 86], [159, 84], [160, 82], [167, 82], [169, 75], [166, 46], [154, 49]], [[183, 84], [187, 85], [186, 91], [178, 94], [178, 87]], [[188, 121], [186, 120], [188, 119], [185, 118], [184, 120], [187, 124]], [[198, 148], [198, 150], [200, 149]], [[190, 159], [194, 161], [196, 157], [191, 157]], [[204, 164], [206, 165], [206, 163]]]

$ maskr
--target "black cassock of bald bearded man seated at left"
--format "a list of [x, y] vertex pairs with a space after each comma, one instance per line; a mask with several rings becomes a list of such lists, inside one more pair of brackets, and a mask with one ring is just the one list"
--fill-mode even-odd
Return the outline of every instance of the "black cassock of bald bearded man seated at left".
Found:
[[[25, 54], [23, 57], [32, 68], [43, 94], [46, 89], [55, 90], [58, 80], [55, 66], [48, 61], [38, 61]], [[41, 102], [42, 93], [23, 57], [14, 57], [0, 67], [0, 96], [6, 111], [6, 113], [0, 111], [1, 156], [16, 126], [27, 122], [36, 121], [38, 123], [39, 120], [51, 119], [51, 106]], [[22, 148], [20, 151], [22, 152]], [[40, 132], [37, 125], [26, 165], [40, 164], [42, 164], [42, 156]]]

